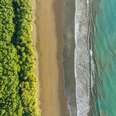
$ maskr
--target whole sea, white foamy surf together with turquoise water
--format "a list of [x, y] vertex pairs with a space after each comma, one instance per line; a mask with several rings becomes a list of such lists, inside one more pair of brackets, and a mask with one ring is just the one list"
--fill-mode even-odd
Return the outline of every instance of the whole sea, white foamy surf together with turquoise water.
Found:
[[116, 116], [116, 0], [88, 2], [76, 0], [77, 115]]

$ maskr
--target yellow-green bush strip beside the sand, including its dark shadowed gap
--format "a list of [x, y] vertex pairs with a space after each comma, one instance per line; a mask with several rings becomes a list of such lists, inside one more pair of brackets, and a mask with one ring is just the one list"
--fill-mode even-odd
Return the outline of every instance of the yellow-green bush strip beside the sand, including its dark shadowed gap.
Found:
[[38, 79], [32, 45], [32, 1], [14, 0], [15, 33], [13, 43], [19, 56], [19, 85], [24, 115], [38, 114]]

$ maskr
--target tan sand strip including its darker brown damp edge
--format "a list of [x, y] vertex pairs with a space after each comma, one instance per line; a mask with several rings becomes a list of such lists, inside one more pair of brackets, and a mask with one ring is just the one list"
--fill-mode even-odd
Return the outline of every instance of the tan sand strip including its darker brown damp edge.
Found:
[[42, 116], [67, 116], [61, 63], [63, 0], [36, 0], [34, 6]]

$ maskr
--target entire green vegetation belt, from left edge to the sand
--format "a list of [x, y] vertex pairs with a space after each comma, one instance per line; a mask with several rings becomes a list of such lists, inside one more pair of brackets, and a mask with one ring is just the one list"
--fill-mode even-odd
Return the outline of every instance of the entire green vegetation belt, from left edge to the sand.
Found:
[[31, 0], [0, 0], [0, 116], [40, 116]]

